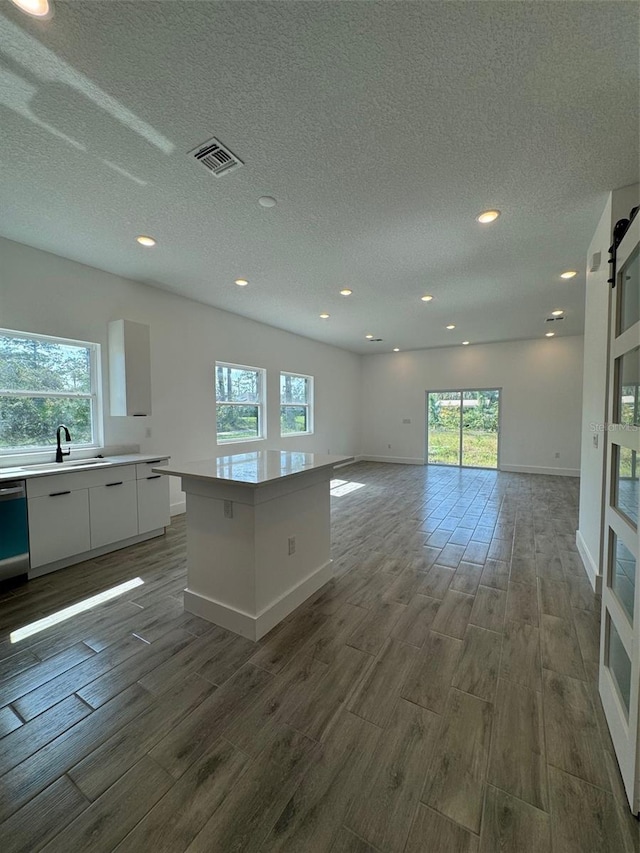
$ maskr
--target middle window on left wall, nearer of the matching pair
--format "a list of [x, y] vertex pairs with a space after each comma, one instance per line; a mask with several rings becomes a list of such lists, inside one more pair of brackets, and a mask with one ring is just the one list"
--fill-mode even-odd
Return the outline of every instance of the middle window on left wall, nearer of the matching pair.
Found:
[[218, 442], [264, 438], [264, 370], [216, 362]]

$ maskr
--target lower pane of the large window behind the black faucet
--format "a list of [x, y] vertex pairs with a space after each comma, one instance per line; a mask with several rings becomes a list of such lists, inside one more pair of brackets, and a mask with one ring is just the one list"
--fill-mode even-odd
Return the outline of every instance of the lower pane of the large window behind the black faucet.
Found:
[[0, 397], [0, 448], [55, 447], [65, 424], [72, 444], [91, 444], [91, 401], [61, 397]]

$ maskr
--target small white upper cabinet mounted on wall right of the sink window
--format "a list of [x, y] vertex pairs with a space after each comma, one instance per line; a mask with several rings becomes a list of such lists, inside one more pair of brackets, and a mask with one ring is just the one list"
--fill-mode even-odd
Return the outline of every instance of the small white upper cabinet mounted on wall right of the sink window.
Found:
[[109, 323], [109, 395], [112, 415], [151, 414], [151, 348], [144, 323]]

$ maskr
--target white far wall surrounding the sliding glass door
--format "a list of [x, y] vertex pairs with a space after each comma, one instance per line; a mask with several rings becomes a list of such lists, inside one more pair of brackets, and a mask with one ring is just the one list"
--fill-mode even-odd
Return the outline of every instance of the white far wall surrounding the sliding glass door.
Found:
[[365, 458], [424, 460], [426, 391], [502, 388], [502, 470], [578, 474], [582, 337], [365, 356], [362, 370]]

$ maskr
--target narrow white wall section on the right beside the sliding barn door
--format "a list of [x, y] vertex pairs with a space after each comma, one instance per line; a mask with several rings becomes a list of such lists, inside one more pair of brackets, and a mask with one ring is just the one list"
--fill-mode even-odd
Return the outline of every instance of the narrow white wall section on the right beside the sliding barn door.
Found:
[[[582, 389], [582, 454], [580, 460], [580, 521], [576, 542], [589, 579], [596, 591], [602, 582], [603, 502], [606, 433], [599, 432], [607, 413], [608, 341], [611, 288], [608, 250], [613, 226], [628, 216], [639, 201], [638, 184], [610, 193], [587, 252], [584, 328], [584, 378]], [[600, 268], [591, 272], [594, 252]], [[593, 443], [598, 435], [598, 446]]]

